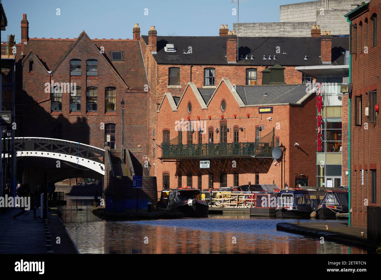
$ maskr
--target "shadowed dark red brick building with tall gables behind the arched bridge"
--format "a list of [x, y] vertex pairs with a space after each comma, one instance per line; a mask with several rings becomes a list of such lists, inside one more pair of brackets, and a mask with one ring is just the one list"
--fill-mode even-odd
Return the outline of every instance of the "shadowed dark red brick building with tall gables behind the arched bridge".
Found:
[[138, 39], [90, 39], [85, 31], [74, 39], [29, 38], [24, 14], [17, 48], [17, 136], [99, 148], [107, 142], [120, 157], [123, 100], [124, 149], [142, 168], [149, 150], [149, 88]]

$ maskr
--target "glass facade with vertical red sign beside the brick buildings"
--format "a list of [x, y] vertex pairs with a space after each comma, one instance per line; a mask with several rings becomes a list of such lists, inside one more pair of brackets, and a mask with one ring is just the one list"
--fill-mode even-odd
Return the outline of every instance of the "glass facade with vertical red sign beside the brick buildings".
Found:
[[[342, 99], [340, 86], [343, 77], [322, 77], [322, 107], [317, 109], [317, 140], [321, 137], [321, 148], [316, 141], [316, 186], [339, 187], [342, 184]], [[318, 95], [318, 94], [317, 94]], [[319, 125], [318, 120], [321, 119]], [[321, 136], [319, 136], [319, 133]]]

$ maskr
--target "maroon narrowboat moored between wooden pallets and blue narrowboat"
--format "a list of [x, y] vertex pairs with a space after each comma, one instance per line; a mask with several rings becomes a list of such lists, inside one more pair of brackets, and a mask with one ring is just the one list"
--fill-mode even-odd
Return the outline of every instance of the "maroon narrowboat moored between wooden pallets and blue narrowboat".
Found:
[[275, 217], [279, 192], [260, 192], [253, 194], [250, 216]]

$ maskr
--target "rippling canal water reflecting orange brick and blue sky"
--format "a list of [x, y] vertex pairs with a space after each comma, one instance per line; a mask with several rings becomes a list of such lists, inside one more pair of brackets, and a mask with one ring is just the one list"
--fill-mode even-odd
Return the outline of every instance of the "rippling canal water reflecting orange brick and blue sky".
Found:
[[[104, 220], [91, 213], [90, 197], [65, 197], [62, 220], [80, 253], [367, 253], [360, 248], [276, 230], [294, 219], [250, 217], [248, 213], [151, 221]], [[77, 211], [75, 206], [83, 211]], [[309, 222], [310, 220], [303, 220]], [[311, 220], [324, 224], [335, 220]]]

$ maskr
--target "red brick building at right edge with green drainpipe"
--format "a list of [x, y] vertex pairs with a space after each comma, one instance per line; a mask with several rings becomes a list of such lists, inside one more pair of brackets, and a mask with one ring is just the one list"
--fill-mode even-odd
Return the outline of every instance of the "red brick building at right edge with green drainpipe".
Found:
[[378, 104], [381, 1], [371, 0], [347, 14], [351, 21], [351, 222], [367, 226], [367, 205], [381, 206]]

